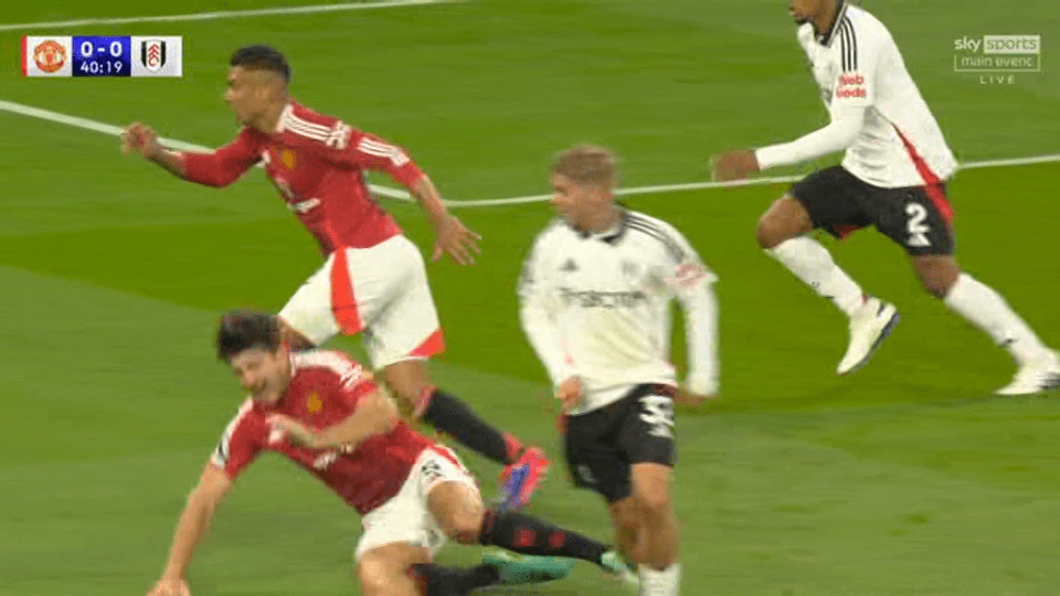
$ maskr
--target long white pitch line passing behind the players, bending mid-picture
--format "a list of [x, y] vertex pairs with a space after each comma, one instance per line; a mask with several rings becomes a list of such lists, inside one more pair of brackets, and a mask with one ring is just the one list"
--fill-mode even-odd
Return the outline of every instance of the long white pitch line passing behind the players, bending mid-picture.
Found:
[[[33, 118], [41, 118], [44, 120], [51, 120], [53, 123], [60, 123], [67, 126], [74, 126], [77, 128], [84, 128], [86, 130], [95, 130], [96, 132], [103, 132], [106, 135], [119, 136], [121, 135], [121, 127], [114, 125], [108, 125], [99, 123], [96, 120], [89, 120], [87, 118], [78, 118], [76, 116], [68, 116], [66, 114], [60, 114], [57, 111], [51, 111], [46, 109], [35, 108], [32, 106], [25, 106], [22, 104], [15, 104], [14, 102], [4, 102], [0, 99], [0, 110], [11, 111], [13, 114], [20, 114], [22, 116], [31, 116]], [[202, 145], [194, 145], [191, 142], [184, 142], [177, 139], [163, 139], [160, 138], [159, 141], [173, 149], [180, 149], [183, 151], [213, 151], [209, 147]], [[1030, 156], [1024, 158], [1010, 158], [1010, 159], [989, 159], [982, 161], [966, 161], [961, 164], [962, 170], [975, 170], [978, 168], [1006, 168], [1011, 166], [1031, 166], [1035, 163], [1053, 163], [1060, 161], [1060, 153], [1050, 153], [1046, 156]], [[763, 184], [778, 184], [786, 182], [795, 182], [799, 180], [801, 175], [780, 175], [780, 177], [765, 177], [765, 178], [752, 178], [749, 180], [734, 180], [731, 182], [688, 182], [683, 184], [658, 184], [653, 187], [633, 187], [628, 189], [618, 189], [615, 191], [617, 196], [634, 196], [638, 194], [658, 194], [667, 192], [682, 192], [691, 190], [706, 190], [706, 189], [727, 189], [733, 187], [761, 187]], [[412, 201], [409, 192], [393, 189], [390, 187], [380, 187], [378, 184], [369, 184], [369, 189], [380, 195], [386, 196], [388, 199], [398, 199], [400, 201]], [[498, 206], [498, 205], [518, 205], [524, 203], [540, 203], [551, 199], [551, 194], [532, 194], [528, 196], [512, 196], [509, 199], [481, 199], [481, 200], [468, 200], [468, 201], [446, 201], [445, 203], [451, 207], [475, 207], [475, 206]]]

